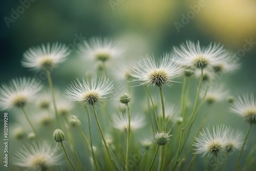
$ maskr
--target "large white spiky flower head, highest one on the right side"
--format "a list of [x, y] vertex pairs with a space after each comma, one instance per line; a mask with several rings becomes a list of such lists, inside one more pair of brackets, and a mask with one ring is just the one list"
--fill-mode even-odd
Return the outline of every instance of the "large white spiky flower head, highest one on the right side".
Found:
[[179, 56], [178, 62], [182, 66], [197, 69], [205, 69], [208, 66], [213, 66], [228, 55], [228, 52], [220, 44], [211, 43], [208, 47], [202, 48], [200, 47], [199, 41], [197, 44], [192, 41], [186, 41], [186, 44], [180, 45], [180, 49], [174, 47], [174, 52]]

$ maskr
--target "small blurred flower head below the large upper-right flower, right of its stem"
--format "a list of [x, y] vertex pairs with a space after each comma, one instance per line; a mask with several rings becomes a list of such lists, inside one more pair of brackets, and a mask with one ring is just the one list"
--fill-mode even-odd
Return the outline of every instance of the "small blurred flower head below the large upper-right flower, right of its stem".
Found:
[[[201, 98], [204, 97], [205, 91], [201, 91]], [[219, 86], [210, 87], [206, 93], [204, 101], [208, 104], [212, 104], [217, 101], [224, 100], [228, 95], [228, 90], [224, 90], [224, 86], [220, 84]]]

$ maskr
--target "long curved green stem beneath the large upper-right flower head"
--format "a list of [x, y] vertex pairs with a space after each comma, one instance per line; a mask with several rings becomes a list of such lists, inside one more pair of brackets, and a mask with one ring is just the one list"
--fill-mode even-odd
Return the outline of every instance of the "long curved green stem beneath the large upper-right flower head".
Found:
[[200, 81], [199, 81], [199, 84], [198, 84], [198, 89], [197, 89], [197, 95], [196, 95], [196, 99], [195, 99], [195, 104], [194, 104], [194, 108], [193, 108], [193, 111], [187, 121], [187, 123], [185, 124], [184, 127], [181, 128], [181, 132], [180, 132], [180, 141], [179, 141], [179, 147], [178, 147], [178, 154], [177, 154], [177, 159], [176, 159], [176, 162], [173, 166], [173, 169], [172, 171], [176, 168], [177, 164], [179, 163], [180, 159], [180, 154], [182, 152], [182, 140], [183, 140], [183, 136], [184, 136], [184, 131], [186, 130], [186, 127], [189, 123], [189, 121], [191, 120], [191, 118], [193, 118], [194, 114], [195, 114], [195, 111], [196, 111], [196, 107], [197, 107], [197, 104], [198, 104], [198, 99], [199, 99], [199, 94], [200, 94], [200, 90], [201, 90], [201, 87], [202, 87], [202, 82], [203, 82], [203, 69], [201, 69], [201, 77], [200, 77]]

